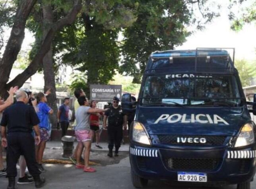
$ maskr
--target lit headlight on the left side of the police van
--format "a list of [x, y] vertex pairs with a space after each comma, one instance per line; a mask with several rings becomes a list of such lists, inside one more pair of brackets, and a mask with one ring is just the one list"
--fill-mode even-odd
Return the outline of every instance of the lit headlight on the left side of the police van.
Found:
[[134, 122], [132, 129], [132, 140], [138, 143], [151, 145], [146, 130], [140, 122]]

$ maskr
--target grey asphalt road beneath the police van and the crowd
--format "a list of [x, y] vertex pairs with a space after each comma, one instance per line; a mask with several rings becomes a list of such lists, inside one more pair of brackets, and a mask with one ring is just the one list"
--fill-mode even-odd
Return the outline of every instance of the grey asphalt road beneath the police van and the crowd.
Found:
[[[47, 179], [44, 189], [133, 189], [130, 179], [129, 159], [124, 158], [118, 164], [93, 166], [95, 173], [85, 173], [73, 165], [46, 164], [47, 172], [42, 176]], [[0, 189], [6, 189], [8, 179], [0, 178]], [[34, 184], [18, 185], [18, 189], [33, 189]], [[236, 189], [236, 185], [211, 189]], [[163, 181], [149, 181], [147, 189], [209, 189], [209, 187], [174, 186]], [[256, 181], [251, 183], [256, 189]]]

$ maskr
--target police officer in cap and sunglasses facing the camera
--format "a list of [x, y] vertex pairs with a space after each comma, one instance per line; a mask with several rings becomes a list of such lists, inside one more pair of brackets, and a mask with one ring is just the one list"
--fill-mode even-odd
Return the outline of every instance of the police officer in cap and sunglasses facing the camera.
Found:
[[[118, 106], [119, 98], [114, 97], [112, 105], [105, 112], [103, 118], [103, 127], [108, 129], [109, 137], [109, 157], [113, 157], [113, 147], [115, 147], [114, 156], [118, 156], [118, 149], [120, 148], [122, 137], [123, 137], [123, 127], [124, 130], [127, 128], [127, 116], [122, 113], [121, 107]], [[107, 127], [108, 118], [108, 127]]]

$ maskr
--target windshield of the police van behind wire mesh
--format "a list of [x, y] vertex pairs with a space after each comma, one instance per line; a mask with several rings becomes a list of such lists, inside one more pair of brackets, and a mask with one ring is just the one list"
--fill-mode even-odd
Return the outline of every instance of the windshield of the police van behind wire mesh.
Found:
[[148, 76], [142, 105], [239, 106], [237, 82], [232, 75], [169, 74]]

